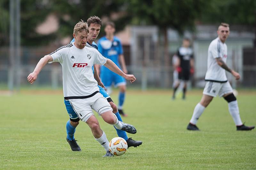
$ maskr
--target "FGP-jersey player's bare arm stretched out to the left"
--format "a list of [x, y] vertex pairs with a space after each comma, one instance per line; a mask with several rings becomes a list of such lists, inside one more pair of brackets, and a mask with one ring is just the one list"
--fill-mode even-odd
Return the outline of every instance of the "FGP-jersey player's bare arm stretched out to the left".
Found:
[[50, 55], [45, 55], [43, 58], [41, 58], [39, 60], [39, 62], [36, 65], [36, 68], [34, 69], [33, 73], [30, 73], [28, 75], [28, 82], [30, 82], [30, 84], [32, 84], [34, 81], [36, 81], [37, 75], [40, 73], [40, 71], [42, 70], [42, 68], [48, 63], [51, 62], [52, 56]]

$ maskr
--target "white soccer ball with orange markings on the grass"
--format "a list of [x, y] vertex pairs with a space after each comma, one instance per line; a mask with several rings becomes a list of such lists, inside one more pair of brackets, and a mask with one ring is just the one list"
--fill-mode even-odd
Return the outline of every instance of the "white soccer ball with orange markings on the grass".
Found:
[[108, 150], [116, 156], [123, 155], [128, 148], [124, 138], [116, 137], [110, 140]]

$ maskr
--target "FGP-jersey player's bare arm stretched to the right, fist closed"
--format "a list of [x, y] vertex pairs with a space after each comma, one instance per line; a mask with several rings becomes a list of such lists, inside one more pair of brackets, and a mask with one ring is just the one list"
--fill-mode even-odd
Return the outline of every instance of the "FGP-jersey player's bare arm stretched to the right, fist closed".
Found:
[[132, 74], [125, 74], [120, 68], [117, 67], [117, 65], [112, 60], [107, 60], [107, 62], [104, 64], [105, 67], [107, 67], [109, 70], [113, 71], [114, 73], [121, 75], [126, 80], [129, 80], [131, 83], [136, 80], [134, 75]]

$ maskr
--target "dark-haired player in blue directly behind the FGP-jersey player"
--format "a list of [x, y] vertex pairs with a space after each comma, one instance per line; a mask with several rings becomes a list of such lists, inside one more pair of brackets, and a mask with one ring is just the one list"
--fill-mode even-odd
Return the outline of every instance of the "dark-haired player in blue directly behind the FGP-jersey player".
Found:
[[[97, 38], [100, 32], [100, 27], [102, 25], [102, 21], [99, 17], [93, 16], [88, 18], [87, 24], [89, 26], [89, 38], [87, 41], [87, 45], [90, 45], [96, 49], [98, 49], [97, 44], [94, 42], [94, 40]], [[75, 39], [73, 39], [71, 42], [74, 42]], [[94, 70], [95, 69], [95, 70]], [[96, 67], [92, 67], [92, 70], [94, 72], [94, 78], [98, 82], [98, 87], [100, 89], [100, 93], [107, 99], [110, 106], [113, 109], [113, 113], [116, 115], [117, 119], [122, 121], [122, 118], [120, 117], [120, 114], [117, 110], [116, 104], [112, 101], [108, 93], [102, 88], [104, 87], [103, 83], [100, 81], [99, 75], [97, 73]], [[72, 149], [72, 151], [81, 151], [80, 146], [76, 143], [76, 140], [74, 138], [74, 134], [76, 131], [76, 126], [79, 124], [79, 118], [76, 115], [76, 112], [73, 110], [71, 104], [69, 101], [64, 100], [64, 103], [66, 105], [66, 109], [68, 111], [68, 115], [70, 117], [70, 120], [68, 120], [66, 124], [67, 129], [67, 141]], [[116, 128], [115, 128], [116, 129]], [[128, 148], [131, 146], [137, 147], [142, 144], [141, 141], [133, 140], [132, 138], [128, 138], [125, 131], [116, 129], [117, 135], [121, 138], [124, 138], [128, 144]]]

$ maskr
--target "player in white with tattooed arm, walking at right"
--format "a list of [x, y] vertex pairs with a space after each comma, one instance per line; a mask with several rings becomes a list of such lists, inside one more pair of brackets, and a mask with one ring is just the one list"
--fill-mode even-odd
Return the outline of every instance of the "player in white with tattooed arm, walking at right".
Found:
[[208, 48], [207, 72], [205, 75], [205, 81], [207, 82], [204, 88], [203, 97], [196, 105], [187, 129], [194, 131], [199, 130], [196, 126], [198, 118], [212, 101], [213, 97], [219, 95], [220, 97], [223, 96], [228, 102], [228, 110], [236, 124], [236, 130], [252, 130], [254, 129], [254, 126], [248, 127], [242, 123], [239, 115], [238, 103], [225, 72], [230, 72], [236, 78], [236, 80], [240, 79], [240, 75], [226, 65], [228, 50], [225, 41], [229, 35], [229, 25], [226, 23], [221, 23], [217, 33], [218, 38], [214, 39]]

